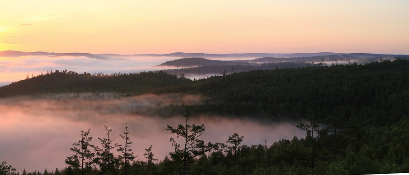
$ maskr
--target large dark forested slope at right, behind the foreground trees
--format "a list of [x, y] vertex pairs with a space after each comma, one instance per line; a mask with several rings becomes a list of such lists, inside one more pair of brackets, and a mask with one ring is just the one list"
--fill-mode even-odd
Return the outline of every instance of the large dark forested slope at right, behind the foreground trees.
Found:
[[265, 117], [343, 115], [379, 125], [408, 114], [408, 70], [407, 60], [254, 70], [198, 80], [189, 89], [214, 97], [208, 108], [201, 107], [204, 111]]

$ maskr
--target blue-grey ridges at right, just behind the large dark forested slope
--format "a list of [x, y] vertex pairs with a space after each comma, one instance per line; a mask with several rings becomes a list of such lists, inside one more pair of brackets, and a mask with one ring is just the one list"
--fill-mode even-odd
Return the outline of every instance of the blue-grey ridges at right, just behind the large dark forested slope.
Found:
[[[330, 54], [330, 55], [326, 55]], [[293, 54], [303, 55], [303, 54]], [[314, 55], [314, 54], [306, 54]], [[367, 54], [367, 53], [350, 53], [350, 54], [332, 54], [332, 53], [318, 53], [322, 56], [310, 57], [262, 57], [249, 60], [237, 61], [220, 61], [210, 60], [205, 58], [182, 58], [172, 61], [167, 61], [157, 66], [170, 66], [173, 69], [162, 70], [169, 74], [184, 74], [191, 75], [220, 75], [225, 71], [242, 72], [251, 70], [272, 70], [276, 68], [299, 68], [305, 67], [311, 63], [322, 62], [324, 64], [365, 64], [381, 60], [395, 59], [409, 59], [408, 55], [381, 55], [381, 54]], [[177, 69], [175, 69], [177, 68]]]

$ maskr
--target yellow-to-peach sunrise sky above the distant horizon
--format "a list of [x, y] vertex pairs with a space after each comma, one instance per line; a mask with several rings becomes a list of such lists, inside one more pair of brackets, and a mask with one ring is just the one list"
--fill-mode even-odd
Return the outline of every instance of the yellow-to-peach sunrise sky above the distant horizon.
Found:
[[409, 54], [408, 0], [2, 0], [0, 51]]

